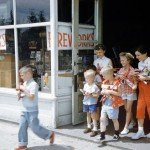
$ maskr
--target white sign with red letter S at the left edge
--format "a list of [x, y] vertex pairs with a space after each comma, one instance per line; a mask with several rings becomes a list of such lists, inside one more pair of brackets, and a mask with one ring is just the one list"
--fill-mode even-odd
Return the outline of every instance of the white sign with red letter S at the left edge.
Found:
[[0, 30], [0, 50], [6, 50], [5, 30]]

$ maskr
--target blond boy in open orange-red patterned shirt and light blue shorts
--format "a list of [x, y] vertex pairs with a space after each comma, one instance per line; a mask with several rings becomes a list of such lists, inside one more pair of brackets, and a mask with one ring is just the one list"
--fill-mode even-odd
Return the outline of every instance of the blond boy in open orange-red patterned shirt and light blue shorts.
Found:
[[113, 140], [119, 139], [119, 106], [123, 105], [120, 99], [121, 89], [118, 80], [115, 80], [112, 66], [102, 68], [101, 74], [105, 79], [102, 84], [101, 94], [103, 95], [101, 117], [100, 117], [100, 141], [105, 140], [105, 132], [107, 126], [107, 117], [113, 121], [115, 132]]

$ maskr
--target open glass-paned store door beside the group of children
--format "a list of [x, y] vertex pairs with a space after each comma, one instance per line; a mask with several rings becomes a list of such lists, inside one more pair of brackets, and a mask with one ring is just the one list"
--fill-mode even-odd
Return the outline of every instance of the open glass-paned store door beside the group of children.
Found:
[[[84, 69], [94, 60], [94, 31], [95, 27], [79, 28], [79, 0], [72, 0], [72, 124], [86, 121], [86, 113], [83, 113], [83, 88]], [[82, 33], [82, 34], [81, 34]], [[80, 35], [80, 37], [79, 37]], [[85, 37], [87, 35], [87, 37]], [[82, 37], [83, 36], [83, 37]], [[82, 37], [82, 38], [81, 38]], [[82, 43], [82, 44], [81, 44]], [[89, 45], [84, 48], [83, 45]]]

